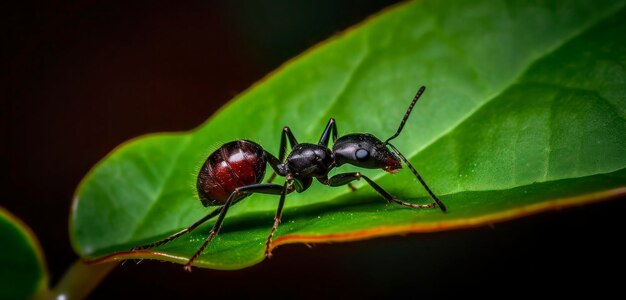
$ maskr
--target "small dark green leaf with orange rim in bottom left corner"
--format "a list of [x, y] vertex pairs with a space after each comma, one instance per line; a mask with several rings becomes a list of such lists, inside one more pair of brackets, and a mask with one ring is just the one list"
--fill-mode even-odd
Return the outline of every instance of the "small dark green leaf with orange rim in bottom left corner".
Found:
[[48, 273], [30, 228], [0, 207], [0, 299], [27, 299], [47, 290]]

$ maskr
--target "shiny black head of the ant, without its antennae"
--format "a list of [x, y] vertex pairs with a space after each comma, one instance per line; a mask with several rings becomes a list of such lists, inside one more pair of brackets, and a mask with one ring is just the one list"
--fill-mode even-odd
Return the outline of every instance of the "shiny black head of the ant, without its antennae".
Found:
[[368, 133], [348, 134], [335, 141], [333, 154], [337, 166], [351, 164], [366, 169], [387, 172], [402, 168], [400, 159], [387, 145]]

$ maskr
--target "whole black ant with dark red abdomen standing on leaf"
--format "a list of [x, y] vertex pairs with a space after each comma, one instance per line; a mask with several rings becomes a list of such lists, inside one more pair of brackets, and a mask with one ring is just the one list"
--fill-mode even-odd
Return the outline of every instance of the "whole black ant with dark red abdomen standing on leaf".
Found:
[[[274, 226], [265, 244], [265, 255], [270, 257], [272, 236], [280, 223], [285, 196], [293, 191], [298, 193], [306, 191], [313, 183], [313, 178], [316, 178], [317, 181], [324, 185], [332, 187], [348, 185], [352, 191], [355, 189], [351, 182], [364, 179], [387, 202], [392, 201], [411, 208], [435, 208], [435, 206], [439, 206], [445, 212], [446, 207], [443, 202], [430, 190], [424, 179], [422, 179], [406, 157], [394, 145], [389, 143], [389, 141], [400, 135], [415, 103], [424, 93], [424, 90], [426, 90], [425, 86], [419, 89], [404, 114], [400, 127], [398, 127], [394, 135], [384, 142], [369, 133], [353, 133], [337, 137], [335, 119], [330, 118], [317, 144], [298, 143], [289, 127], [285, 126], [280, 139], [278, 158], [264, 150], [257, 143], [248, 140], [238, 140], [222, 145], [206, 159], [200, 169], [196, 183], [198, 196], [202, 204], [205, 207], [221, 206], [221, 209], [212, 211], [207, 216], [177, 233], [151, 244], [134, 247], [132, 251], [163, 245], [196, 229], [209, 219], [218, 216], [209, 236], [185, 265], [185, 270], [191, 271], [193, 262], [202, 254], [209, 242], [222, 228], [228, 209], [251, 194], [258, 193], [280, 195], [276, 216], [274, 217]], [[333, 139], [332, 150], [328, 148], [328, 140], [331, 136]], [[286, 152], [287, 141], [289, 141], [291, 146], [289, 155]], [[328, 178], [328, 173], [333, 168], [343, 164], [351, 164], [366, 169], [383, 169], [392, 173], [402, 168], [402, 162], [408, 166], [428, 194], [435, 200], [435, 203], [412, 204], [404, 202], [389, 194], [360, 172], [340, 173]], [[274, 173], [270, 176], [267, 183], [261, 183], [265, 176], [267, 163], [274, 170]], [[283, 185], [272, 184], [276, 174], [285, 177]]]

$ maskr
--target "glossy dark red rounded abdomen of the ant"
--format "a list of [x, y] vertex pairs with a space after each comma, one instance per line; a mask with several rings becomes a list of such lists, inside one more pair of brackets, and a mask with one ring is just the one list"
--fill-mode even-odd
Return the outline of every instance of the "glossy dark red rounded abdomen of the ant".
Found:
[[223, 205], [236, 188], [260, 183], [265, 155], [257, 143], [229, 142], [211, 153], [198, 174], [196, 188], [204, 206]]

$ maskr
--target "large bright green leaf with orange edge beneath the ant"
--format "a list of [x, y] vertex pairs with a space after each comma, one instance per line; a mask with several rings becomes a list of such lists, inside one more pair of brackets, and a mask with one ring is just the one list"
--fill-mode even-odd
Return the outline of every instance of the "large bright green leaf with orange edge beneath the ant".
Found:
[[[316, 183], [287, 197], [274, 245], [478, 226], [626, 194], [625, 1], [532, 2], [394, 7], [286, 64], [201, 127], [126, 143], [77, 190], [74, 248], [99, 261], [184, 263], [212, 222], [153, 252], [125, 251], [210, 212], [194, 184], [219, 145], [246, 138], [276, 154], [282, 126], [315, 142], [330, 117], [340, 135], [384, 139], [420, 85], [428, 90], [394, 144], [449, 212], [386, 204], [363, 182], [354, 193]], [[406, 169], [364, 173], [400, 198], [431, 201]], [[235, 205], [196, 265], [261, 261], [277, 201]]]

